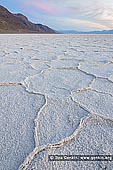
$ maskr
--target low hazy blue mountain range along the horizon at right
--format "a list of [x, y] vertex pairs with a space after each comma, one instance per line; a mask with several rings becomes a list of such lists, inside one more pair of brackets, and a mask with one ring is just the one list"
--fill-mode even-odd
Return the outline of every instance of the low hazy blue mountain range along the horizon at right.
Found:
[[113, 34], [113, 30], [102, 30], [102, 31], [75, 31], [75, 30], [60, 30], [62, 34]]

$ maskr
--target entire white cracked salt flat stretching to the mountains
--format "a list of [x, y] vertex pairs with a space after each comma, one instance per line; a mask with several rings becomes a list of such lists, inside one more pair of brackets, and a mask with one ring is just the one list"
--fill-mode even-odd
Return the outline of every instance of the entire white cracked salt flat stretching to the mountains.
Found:
[[113, 36], [0, 35], [0, 169], [113, 169]]

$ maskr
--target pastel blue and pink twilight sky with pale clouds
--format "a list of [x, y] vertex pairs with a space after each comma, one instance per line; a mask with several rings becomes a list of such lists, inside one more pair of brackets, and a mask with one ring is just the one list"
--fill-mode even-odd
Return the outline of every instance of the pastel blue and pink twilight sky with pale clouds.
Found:
[[113, 29], [113, 0], [0, 0], [0, 5], [56, 30]]

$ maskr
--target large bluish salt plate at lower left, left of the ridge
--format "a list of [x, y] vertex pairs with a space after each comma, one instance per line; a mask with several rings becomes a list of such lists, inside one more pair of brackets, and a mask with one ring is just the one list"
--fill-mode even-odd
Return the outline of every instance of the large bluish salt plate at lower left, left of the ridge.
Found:
[[34, 149], [34, 119], [43, 102], [21, 86], [0, 87], [0, 169], [17, 170]]

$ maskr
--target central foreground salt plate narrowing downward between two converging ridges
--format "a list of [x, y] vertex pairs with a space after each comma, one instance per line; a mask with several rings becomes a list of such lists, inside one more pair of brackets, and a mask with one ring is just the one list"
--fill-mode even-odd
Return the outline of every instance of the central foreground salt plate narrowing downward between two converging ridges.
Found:
[[36, 146], [56, 143], [70, 136], [88, 114], [71, 98], [48, 97], [35, 120]]

